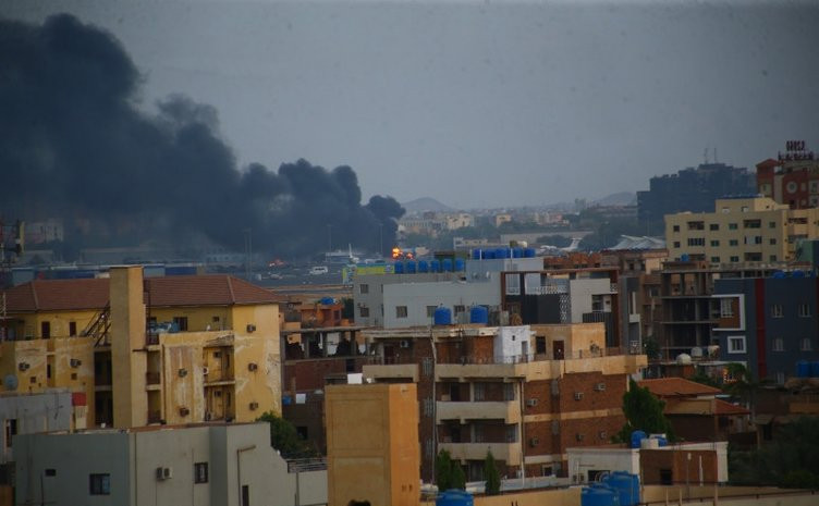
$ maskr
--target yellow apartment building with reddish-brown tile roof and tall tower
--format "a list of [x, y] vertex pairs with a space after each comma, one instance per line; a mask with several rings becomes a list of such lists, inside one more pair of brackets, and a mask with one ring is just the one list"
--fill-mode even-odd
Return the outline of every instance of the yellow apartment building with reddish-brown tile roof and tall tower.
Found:
[[281, 411], [279, 308], [228, 275], [33, 281], [5, 291], [0, 375], [84, 393], [90, 427]]

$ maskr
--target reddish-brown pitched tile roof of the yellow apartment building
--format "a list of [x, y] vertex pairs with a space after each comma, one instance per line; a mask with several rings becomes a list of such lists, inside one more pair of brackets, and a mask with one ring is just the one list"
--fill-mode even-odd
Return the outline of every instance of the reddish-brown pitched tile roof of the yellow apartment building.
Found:
[[[146, 279], [146, 304], [151, 307], [233, 306], [274, 304], [281, 297], [227, 274]], [[4, 292], [10, 313], [102, 309], [109, 280], [35, 280]]]

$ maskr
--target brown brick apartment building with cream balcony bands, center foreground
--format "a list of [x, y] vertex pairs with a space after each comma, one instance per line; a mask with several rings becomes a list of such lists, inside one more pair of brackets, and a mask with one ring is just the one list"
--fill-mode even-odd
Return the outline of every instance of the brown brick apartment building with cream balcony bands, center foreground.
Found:
[[468, 480], [487, 449], [501, 474], [566, 476], [565, 448], [606, 443], [623, 425], [628, 374], [645, 355], [607, 355], [601, 323], [363, 331], [364, 377], [417, 384], [421, 478], [447, 449]]

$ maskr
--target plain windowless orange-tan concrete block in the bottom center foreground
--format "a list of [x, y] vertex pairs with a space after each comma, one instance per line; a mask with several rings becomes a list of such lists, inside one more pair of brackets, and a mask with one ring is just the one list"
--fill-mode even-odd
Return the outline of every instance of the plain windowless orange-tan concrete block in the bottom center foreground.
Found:
[[329, 506], [418, 505], [416, 396], [414, 384], [327, 386]]

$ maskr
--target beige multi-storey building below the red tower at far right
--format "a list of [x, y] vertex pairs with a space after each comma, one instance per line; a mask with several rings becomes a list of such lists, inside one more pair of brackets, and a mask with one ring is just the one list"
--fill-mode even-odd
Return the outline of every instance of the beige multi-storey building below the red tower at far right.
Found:
[[799, 239], [819, 238], [819, 209], [791, 209], [768, 197], [717, 199], [714, 208], [665, 215], [670, 259], [783, 262], [795, 258]]

